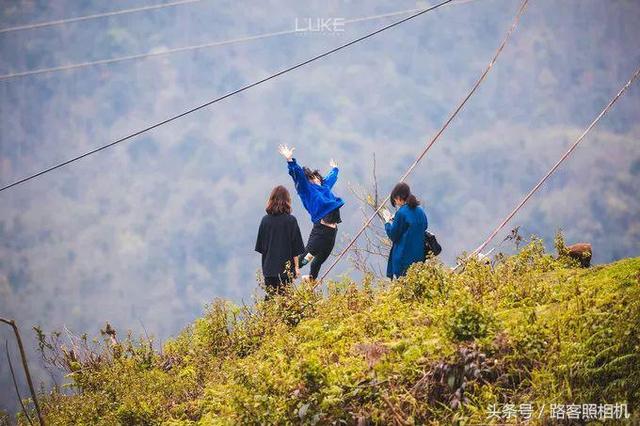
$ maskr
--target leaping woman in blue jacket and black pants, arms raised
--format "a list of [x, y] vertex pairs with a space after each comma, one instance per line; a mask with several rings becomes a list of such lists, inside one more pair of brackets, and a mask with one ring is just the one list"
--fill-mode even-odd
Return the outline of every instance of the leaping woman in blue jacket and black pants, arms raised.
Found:
[[309, 235], [305, 253], [300, 256], [300, 267], [311, 262], [309, 275], [317, 279], [320, 267], [327, 260], [338, 234], [340, 207], [344, 205], [341, 198], [336, 197], [333, 186], [338, 180], [338, 165], [332, 159], [329, 163], [331, 171], [322, 176], [318, 170], [301, 167], [293, 157], [295, 148], [280, 145], [278, 151], [287, 160], [289, 174], [296, 186], [296, 191], [302, 200], [302, 205], [309, 212], [313, 229]]

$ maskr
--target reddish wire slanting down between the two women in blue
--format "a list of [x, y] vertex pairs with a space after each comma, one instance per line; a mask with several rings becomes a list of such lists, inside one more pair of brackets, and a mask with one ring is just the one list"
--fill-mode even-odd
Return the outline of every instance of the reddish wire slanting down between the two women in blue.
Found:
[[[498, 59], [498, 56], [500, 56], [500, 53], [502, 52], [502, 50], [506, 46], [507, 42], [511, 38], [511, 34], [514, 32], [516, 26], [518, 25], [518, 22], [520, 21], [520, 17], [522, 16], [522, 14], [524, 13], [524, 11], [525, 11], [525, 9], [527, 7], [528, 1], [529, 0], [523, 0], [522, 4], [518, 8], [518, 12], [516, 13], [516, 16], [515, 16], [515, 18], [513, 20], [513, 23], [509, 27], [509, 30], [507, 31], [504, 39], [502, 40], [502, 43], [500, 43], [500, 46], [498, 47], [498, 50], [496, 50], [496, 53], [493, 55], [493, 58], [491, 58], [491, 61], [489, 62], [489, 65], [484, 70], [484, 72], [482, 73], [482, 75], [480, 76], [478, 81], [476, 81], [476, 83], [473, 85], [471, 91], [464, 97], [462, 102], [460, 102], [458, 104], [458, 106], [453, 110], [453, 112], [451, 113], [451, 115], [449, 115], [449, 118], [447, 118], [447, 120], [444, 122], [444, 124], [442, 125], [440, 130], [438, 130], [438, 132], [435, 134], [435, 136], [431, 139], [431, 141], [427, 144], [427, 146], [422, 150], [420, 155], [418, 155], [416, 160], [409, 167], [409, 169], [407, 169], [405, 174], [402, 175], [402, 177], [400, 178], [400, 182], [403, 182], [407, 178], [407, 176], [409, 176], [409, 174], [411, 174], [413, 169], [415, 169], [415, 167], [418, 165], [418, 163], [420, 163], [420, 161], [424, 158], [424, 156], [427, 154], [429, 149], [436, 143], [438, 138], [440, 138], [440, 135], [442, 135], [442, 133], [444, 133], [444, 131], [447, 129], [447, 127], [449, 127], [449, 124], [451, 124], [451, 122], [458, 115], [460, 110], [462, 110], [462, 107], [464, 107], [464, 105], [467, 103], [467, 101], [476, 92], [478, 87], [480, 87], [480, 84], [482, 84], [482, 82], [486, 78], [487, 74], [489, 74], [489, 71], [492, 69], [493, 65], [496, 63], [496, 61]], [[387, 195], [387, 198], [385, 198], [384, 201], [382, 203], [380, 203], [380, 205], [378, 206], [376, 211], [369, 217], [369, 219], [367, 219], [365, 224], [362, 226], [362, 228], [360, 228], [360, 230], [353, 237], [351, 242], [344, 248], [344, 250], [342, 250], [342, 252], [340, 252], [340, 254], [336, 257], [336, 259], [333, 261], [331, 266], [329, 266], [329, 268], [325, 271], [325, 273], [322, 275], [320, 280], [318, 282], [316, 282], [315, 285], [318, 285], [320, 282], [322, 282], [327, 277], [327, 275], [329, 275], [331, 270], [338, 264], [338, 262], [340, 262], [340, 260], [344, 257], [344, 255], [347, 254], [347, 252], [355, 244], [355, 242], [358, 240], [358, 238], [360, 238], [362, 233], [369, 227], [369, 225], [371, 224], [371, 221], [376, 217], [376, 215], [380, 212], [380, 210], [384, 207], [384, 205], [389, 201], [389, 198], [390, 198], [390, 195]]]

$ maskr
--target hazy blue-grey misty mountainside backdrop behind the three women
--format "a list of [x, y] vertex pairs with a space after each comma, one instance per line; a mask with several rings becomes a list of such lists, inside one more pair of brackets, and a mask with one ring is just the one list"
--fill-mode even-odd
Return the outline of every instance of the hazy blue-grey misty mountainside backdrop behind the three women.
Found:
[[[0, 29], [154, 4], [0, 3]], [[136, 333], [143, 323], [164, 339], [215, 297], [249, 302], [264, 202], [275, 185], [293, 190], [279, 143], [295, 146], [303, 164], [340, 163], [342, 248], [362, 223], [349, 185], [370, 182], [375, 153], [386, 195], [478, 78], [519, 3], [454, 2], [0, 193], [0, 315], [18, 320], [33, 357], [34, 324], [94, 335], [105, 321]], [[202, 0], [6, 32], [0, 75], [428, 4]], [[0, 81], [0, 184], [394, 19]], [[443, 261], [453, 264], [482, 242], [640, 66], [638, 22], [634, 0], [530, 1], [486, 83], [409, 179], [442, 242]], [[592, 242], [596, 262], [640, 255], [639, 116], [636, 84], [511, 225], [548, 243], [562, 228], [569, 242]], [[306, 239], [311, 224], [297, 198], [294, 214]], [[350, 272], [344, 261], [334, 276]], [[0, 406], [13, 407], [0, 358]]]

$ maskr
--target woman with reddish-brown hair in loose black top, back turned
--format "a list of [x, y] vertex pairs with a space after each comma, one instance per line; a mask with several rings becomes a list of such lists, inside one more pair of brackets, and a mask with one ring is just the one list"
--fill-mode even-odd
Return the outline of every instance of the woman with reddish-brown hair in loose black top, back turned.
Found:
[[298, 256], [304, 252], [304, 243], [298, 221], [291, 215], [291, 196], [284, 186], [271, 191], [267, 214], [260, 222], [256, 251], [262, 254], [262, 274], [267, 291], [266, 299], [282, 294], [300, 271]]

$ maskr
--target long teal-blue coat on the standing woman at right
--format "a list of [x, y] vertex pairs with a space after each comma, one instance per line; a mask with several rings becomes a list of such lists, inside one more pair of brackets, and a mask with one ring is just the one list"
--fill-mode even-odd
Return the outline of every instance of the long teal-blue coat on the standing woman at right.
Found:
[[427, 226], [427, 215], [422, 207], [412, 209], [406, 204], [398, 209], [393, 222], [384, 225], [387, 236], [393, 242], [387, 263], [387, 277], [401, 277], [411, 264], [424, 260], [424, 231]]

